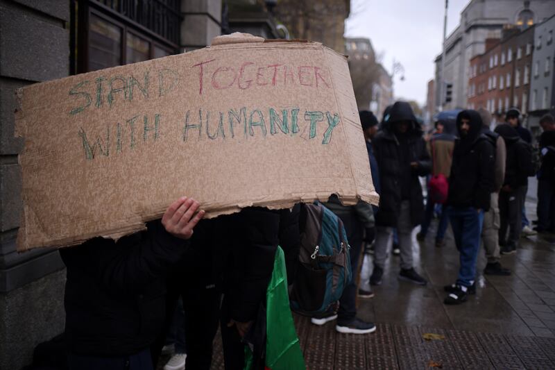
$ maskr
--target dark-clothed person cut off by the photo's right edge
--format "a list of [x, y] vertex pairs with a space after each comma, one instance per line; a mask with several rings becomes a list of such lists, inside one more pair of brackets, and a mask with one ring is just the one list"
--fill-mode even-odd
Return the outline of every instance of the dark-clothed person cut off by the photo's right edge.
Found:
[[541, 167], [538, 172], [538, 233], [555, 233], [555, 119], [544, 115], [540, 119]]

